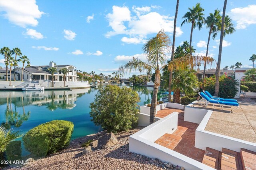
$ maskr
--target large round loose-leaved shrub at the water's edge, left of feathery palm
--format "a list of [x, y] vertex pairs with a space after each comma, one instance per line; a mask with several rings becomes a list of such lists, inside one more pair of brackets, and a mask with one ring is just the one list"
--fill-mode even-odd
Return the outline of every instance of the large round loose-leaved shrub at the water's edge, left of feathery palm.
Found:
[[90, 116], [108, 132], [126, 131], [136, 126], [139, 101], [139, 95], [131, 88], [109, 85], [95, 95]]

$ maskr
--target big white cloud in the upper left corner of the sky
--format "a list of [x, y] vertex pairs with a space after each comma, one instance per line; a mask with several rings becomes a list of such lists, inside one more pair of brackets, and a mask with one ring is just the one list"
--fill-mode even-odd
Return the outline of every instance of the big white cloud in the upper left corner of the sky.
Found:
[[44, 14], [38, 9], [35, 0], [1, 0], [0, 11], [5, 12], [2, 16], [10, 23], [24, 28], [38, 25], [37, 19]]

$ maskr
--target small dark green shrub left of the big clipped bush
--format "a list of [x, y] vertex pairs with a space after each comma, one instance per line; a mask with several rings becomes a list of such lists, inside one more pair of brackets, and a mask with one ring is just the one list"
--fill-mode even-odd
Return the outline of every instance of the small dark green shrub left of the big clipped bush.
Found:
[[6, 147], [7, 160], [21, 160], [21, 141], [11, 141]]

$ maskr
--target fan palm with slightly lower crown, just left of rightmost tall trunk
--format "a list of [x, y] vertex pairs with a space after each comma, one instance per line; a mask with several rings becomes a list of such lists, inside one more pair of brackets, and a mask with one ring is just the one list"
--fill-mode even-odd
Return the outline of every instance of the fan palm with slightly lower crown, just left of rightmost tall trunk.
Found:
[[[215, 39], [216, 32], [219, 31], [218, 25], [219, 25], [219, 23], [221, 23], [220, 10], [218, 10], [218, 9], [215, 10], [214, 14], [210, 13], [210, 16], [206, 17], [205, 23], [206, 23], [206, 27], [210, 28], [209, 35], [208, 35], [207, 48], [206, 48], [206, 57], [207, 57], [211, 34], [214, 33], [212, 38]], [[204, 62], [204, 72], [203, 72], [203, 77], [202, 77], [203, 80], [205, 77], [206, 64], [207, 63]]]

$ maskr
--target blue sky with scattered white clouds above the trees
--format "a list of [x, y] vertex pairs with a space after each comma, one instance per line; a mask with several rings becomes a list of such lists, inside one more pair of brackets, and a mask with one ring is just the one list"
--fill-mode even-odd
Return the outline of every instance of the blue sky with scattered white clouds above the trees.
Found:
[[[175, 47], [190, 40], [191, 23], [181, 27], [182, 17], [197, 2], [204, 8], [204, 17], [217, 8], [223, 10], [224, 0], [180, 0]], [[172, 41], [175, 10], [176, 0], [1, 0], [0, 48], [20, 48], [31, 65], [53, 61], [112, 75], [132, 57], [145, 61], [142, 47], [161, 29]], [[236, 62], [252, 67], [249, 58], [256, 53], [256, 1], [228, 0], [226, 14], [236, 31], [224, 37], [221, 68]], [[205, 25], [201, 30], [194, 29], [194, 55], [206, 55], [208, 31]], [[209, 45], [208, 56], [216, 61], [219, 39], [220, 33], [215, 40], [210, 39]], [[1, 55], [2, 67], [3, 62]]]

